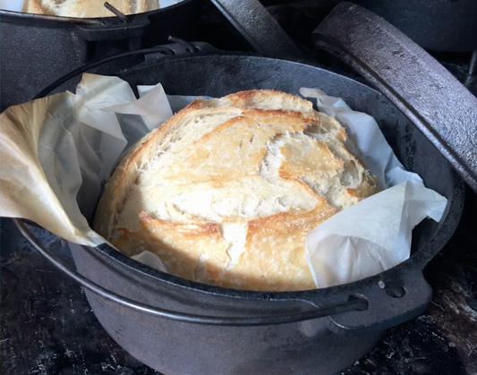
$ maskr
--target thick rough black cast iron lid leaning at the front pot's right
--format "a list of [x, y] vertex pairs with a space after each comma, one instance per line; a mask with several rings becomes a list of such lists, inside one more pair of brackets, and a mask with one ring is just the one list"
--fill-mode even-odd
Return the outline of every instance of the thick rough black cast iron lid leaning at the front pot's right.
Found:
[[477, 98], [444, 66], [387, 21], [350, 3], [336, 5], [313, 40], [379, 89], [477, 192]]

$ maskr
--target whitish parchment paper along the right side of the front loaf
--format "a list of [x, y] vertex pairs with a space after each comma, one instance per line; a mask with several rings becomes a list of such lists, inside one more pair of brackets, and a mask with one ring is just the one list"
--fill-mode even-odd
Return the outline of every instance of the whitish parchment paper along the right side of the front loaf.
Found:
[[318, 288], [371, 277], [408, 259], [413, 227], [424, 218], [439, 222], [447, 199], [422, 183], [397, 160], [371, 115], [319, 89], [301, 89], [320, 112], [346, 128], [357, 153], [385, 190], [338, 212], [306, 237], [305, 251]]

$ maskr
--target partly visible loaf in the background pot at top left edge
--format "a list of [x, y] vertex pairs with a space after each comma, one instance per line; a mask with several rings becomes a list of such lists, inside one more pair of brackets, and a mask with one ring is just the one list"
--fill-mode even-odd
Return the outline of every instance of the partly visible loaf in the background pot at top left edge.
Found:
[[[158, 0], [108, 0], [119, 12], [135, 14], [158, 9]], [[64, 17], [114, 17], [103, 0], [25, 0], [22, 12]]]

